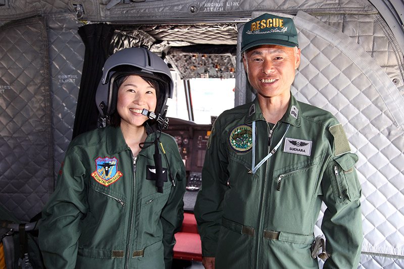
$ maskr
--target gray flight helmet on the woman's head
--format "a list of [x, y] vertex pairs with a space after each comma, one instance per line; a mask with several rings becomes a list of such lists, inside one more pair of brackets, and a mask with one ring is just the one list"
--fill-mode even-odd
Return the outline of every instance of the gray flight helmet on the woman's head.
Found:
[[118, 89], [114, 79], [122, 75], [139, 75], [159, 82], [160, 90], [155, 113], [164, 117], [167, 98], [172, 98], [174, 82], [170, 69], [155, 53], [143, 47], [125, 48], [111, 55], [104, 64], [103, 77], [95, 93], [95, 102], [103, 118], [108, 118], [116, 110]]

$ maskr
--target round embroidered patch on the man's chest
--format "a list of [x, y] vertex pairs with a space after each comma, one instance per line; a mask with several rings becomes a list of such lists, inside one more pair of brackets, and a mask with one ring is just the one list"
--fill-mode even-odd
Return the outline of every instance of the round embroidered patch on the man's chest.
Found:
[[247, 152], [252, 147], [252, 128], [248, 125], [234, 127], [229, 136], [230, 146], [237, 152]]

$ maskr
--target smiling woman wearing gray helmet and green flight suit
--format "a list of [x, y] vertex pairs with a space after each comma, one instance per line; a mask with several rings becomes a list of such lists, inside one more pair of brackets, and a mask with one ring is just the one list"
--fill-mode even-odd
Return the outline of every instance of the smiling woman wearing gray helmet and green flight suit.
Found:
[[69, 145], [42, 212], [47, 268], [171, 267], [186, 184], [177, 144], [161, 132], [172, 87], [167, 65], [147, 49], [106, 61], [96, 103], [109, 125]]

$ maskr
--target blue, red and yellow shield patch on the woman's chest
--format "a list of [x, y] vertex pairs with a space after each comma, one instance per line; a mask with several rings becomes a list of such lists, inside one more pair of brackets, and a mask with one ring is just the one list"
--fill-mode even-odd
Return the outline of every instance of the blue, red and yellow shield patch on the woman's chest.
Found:
[[117, 158], [100, 158], [95, 160], [96, 170], [92, 172], [91, 176], [100, 184], [104, 186], [111, 185], [122, 177], [122, 173], [118, 171]]

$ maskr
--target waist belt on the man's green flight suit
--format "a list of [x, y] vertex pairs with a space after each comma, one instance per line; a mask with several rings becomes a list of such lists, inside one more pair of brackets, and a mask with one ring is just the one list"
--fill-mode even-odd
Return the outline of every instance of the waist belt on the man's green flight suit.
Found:
[[[238, 234], [245, 234], [249, 236], [255, 236], [256, 234], [256, 229], [229, 221], [225, 218], [222, 218], [222, 226]], [[299, 235], [286, 232], [264, 231], [263, 237], [265, 239], [279, 240], [296, 244], [312, 244], [314, 242], [314, 235]]]

